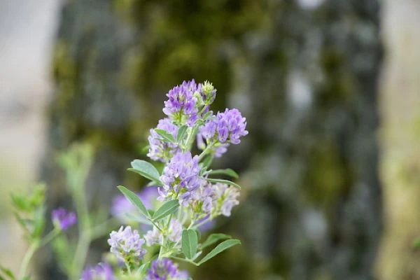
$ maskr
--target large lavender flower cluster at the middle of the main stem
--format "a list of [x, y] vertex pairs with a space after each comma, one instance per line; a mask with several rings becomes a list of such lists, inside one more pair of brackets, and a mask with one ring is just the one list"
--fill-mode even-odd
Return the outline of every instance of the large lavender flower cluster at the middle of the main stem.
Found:
[[178, 199], [181, 204], [186, 205], [189, 200], [193, 199], [194, 191], [203, 183], [199, 175], [200, 167], [197, 155], [193, 158], [190, 152], [176, 153], [160, 176], [163, 187], [158, 188], [160, 194], [158, 200], [173, 197]]

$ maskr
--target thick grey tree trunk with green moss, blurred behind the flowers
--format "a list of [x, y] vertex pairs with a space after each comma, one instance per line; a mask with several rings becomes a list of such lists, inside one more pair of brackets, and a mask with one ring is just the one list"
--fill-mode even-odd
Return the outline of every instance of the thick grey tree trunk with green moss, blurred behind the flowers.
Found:
[[118, 184], [141, 186], [125, 169], [165, 93], [208, 79], [215, 110], [248, 118], [244, 144], [216, 162], [244, 174], [241, 207], [217, 228], [244, 245], [195, 279], [372, 279], [378, 13], [376, 0], [66, 1], [42, 172], [51, 203], [66, 199], [55, 153], [73, 141], [97, 151], [92, 207]]

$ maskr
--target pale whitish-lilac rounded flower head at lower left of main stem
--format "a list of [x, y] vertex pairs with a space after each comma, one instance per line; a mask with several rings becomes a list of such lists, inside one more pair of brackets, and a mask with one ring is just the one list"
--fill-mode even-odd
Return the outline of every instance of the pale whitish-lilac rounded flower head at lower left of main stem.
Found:
[[146, 254], [143, 248], [144, 239], [140, 238], [137, 230], [130, 226], [121, 226], [118, 232], [112, 231], [109, 235], [108, 244], [111, 246], [111, 253], [115, 254], [118, 260], [126, 263], [138, 262]]

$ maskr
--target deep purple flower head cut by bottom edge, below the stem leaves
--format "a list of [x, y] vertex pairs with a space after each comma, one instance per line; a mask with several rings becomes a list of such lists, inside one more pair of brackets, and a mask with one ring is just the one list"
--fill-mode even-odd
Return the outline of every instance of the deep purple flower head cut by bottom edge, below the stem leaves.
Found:
[[178, 265], [168, 258], [154, 260], [148, 269], [146, 280], [181, 280], [188, 279], [188, 272], [179, 271]]

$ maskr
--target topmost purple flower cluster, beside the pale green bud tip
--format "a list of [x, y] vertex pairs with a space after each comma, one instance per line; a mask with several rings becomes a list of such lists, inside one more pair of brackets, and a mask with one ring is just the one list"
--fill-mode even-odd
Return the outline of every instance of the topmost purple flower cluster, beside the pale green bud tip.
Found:
[[175, 123], [187, 124], [194, 126], [197, 121], [197, 98], [195, 92], [200, 92], [201, 85], [197, 85], [195, 80], [185, 80], [181, 85], [169, 90], [167, 97], [169, 99], [165, 101], [165, 113], [169, 118], [174, 120]]

